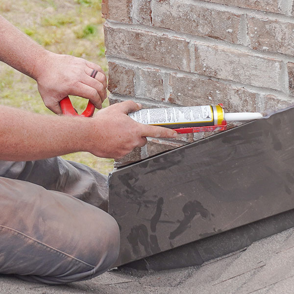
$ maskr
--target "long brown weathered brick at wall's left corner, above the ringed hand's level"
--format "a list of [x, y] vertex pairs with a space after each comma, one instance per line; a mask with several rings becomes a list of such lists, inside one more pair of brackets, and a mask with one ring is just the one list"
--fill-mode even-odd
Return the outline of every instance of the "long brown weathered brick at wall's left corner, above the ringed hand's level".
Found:
[[189, 42], [137, 29], [104, 26], [106, 54], [190, 71]]

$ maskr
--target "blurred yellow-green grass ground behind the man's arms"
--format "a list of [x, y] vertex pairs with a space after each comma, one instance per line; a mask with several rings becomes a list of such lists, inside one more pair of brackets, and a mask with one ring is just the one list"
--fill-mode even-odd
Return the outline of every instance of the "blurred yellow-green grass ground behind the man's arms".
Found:
[[[0, 14], [46, 49], [95, 62], [108, 73], [101, 0], [0, 0]], [[78, 113], [88, 100], [71, 97]], [[35, 80], [0, 62], [0, 104], [54, 115], [47, 109]], [[103, 107], [108, 106], [105, 100]], [[87, 152], [62, 156], [108, 174], [113, 160]]]

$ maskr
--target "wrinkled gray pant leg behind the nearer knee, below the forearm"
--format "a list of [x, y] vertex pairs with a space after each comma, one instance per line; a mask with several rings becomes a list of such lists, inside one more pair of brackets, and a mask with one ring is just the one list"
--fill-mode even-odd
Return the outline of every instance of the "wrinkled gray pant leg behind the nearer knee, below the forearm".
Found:
[[61, 157], [37, 161], [0, 161], [0, 176], [64, 192], [107, 211], [107, 176], [80, 163]]

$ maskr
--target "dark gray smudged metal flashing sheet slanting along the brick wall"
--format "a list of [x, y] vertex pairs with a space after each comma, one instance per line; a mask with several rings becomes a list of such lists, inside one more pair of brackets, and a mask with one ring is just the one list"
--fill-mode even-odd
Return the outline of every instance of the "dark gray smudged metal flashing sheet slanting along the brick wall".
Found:
[[117, 266], [294, 208], [294, 108], [118, 169]]

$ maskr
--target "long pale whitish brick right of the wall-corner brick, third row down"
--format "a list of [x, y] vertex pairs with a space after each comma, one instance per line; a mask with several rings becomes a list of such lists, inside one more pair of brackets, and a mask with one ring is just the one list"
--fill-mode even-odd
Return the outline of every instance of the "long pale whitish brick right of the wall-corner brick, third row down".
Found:
[[195, 71], [208, 76], [280, 90], [281, 65], [281, 60], [238, 49], [195, 44]]

